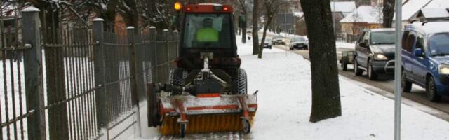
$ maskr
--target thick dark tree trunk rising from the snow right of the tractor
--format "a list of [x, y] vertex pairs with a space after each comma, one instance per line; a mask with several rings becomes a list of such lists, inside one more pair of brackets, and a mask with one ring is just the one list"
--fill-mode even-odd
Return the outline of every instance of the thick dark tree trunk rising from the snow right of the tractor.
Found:
[[310, 45], [312, 123], [342, 115], [335, 36], [329, 3], [329, 0], [301, 1]]

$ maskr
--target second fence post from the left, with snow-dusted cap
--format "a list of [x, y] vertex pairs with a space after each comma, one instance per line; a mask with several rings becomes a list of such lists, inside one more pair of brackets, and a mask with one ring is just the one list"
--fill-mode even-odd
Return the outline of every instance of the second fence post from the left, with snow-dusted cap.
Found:
[[101, 18], [95, 18], [93, 20], [93, 43], [94, 45], [94, 71], [95, 71], [95, 86], [100, 87], [95, 90], [95, 109], [97, 113], [97, 128], [100, 130], [101, 128], [107, 127], [107, 106], [106, 102], [108, 97], [105, 94], [105, 49], [102, 45], [104, 40], [104, 29], [103, 22], [105, 20]]

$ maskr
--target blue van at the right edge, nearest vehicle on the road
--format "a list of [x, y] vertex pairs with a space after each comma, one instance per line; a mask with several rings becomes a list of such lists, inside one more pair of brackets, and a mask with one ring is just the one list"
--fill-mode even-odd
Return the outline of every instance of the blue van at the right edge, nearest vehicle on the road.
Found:
[[402, 38], [402, 90], [424, 87], [431, 102], [449, 95], [449, 22], [406, 25]]

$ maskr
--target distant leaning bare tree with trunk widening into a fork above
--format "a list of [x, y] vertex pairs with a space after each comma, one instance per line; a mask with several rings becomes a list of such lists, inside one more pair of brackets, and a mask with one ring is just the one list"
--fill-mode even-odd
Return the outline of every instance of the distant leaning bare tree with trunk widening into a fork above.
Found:
[[262, 34], [262, 41], [259, 45], [259, 51], [257, 57], [259, 59], [262, 59], [262, 52], [264, 50], [264, 41], [265, 37], [267, 36], [267, 29], [269, 25], [272, 24], [272, 20], [274, 18], [274, 15], [278, 13], [279, 8], [281, 7], [281, 1], [279, 0], [264, 0], [263, 1], [263, 8], [264, 8], [264, 33]]

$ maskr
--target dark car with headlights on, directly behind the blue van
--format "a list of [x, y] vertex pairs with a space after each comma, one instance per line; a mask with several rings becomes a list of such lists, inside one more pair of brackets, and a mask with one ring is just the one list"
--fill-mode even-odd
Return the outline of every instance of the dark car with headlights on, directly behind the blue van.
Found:
[[394, 73], [394, 29], [367, 29], [361, 31], [354, 54], [354, 72], [368, 73], [370, 80], [380, 74]]

